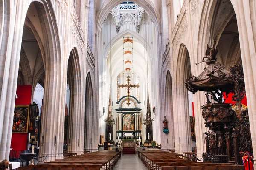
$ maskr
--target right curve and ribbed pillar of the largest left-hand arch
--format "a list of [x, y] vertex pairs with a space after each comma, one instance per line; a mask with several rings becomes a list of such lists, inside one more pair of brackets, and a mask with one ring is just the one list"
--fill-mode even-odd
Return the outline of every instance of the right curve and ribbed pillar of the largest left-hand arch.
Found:
[[[64, 114], [60, 113], [64, 113], [65, 102], [60, 102], [63, 99], [61, 91], [63, 88], [61, 84], [63, 81], [61, 67], [63, 65], [61, 65], [61, 48], [57, 20], [49, 0], [33, 0], [27, 5], [27, 9], [32, 5], [35, 6], [41, 23], [41, 37], [44, 37], [44, 40], [42, 40], [44, 50], [41, 49], [45, 68], [44, 114], [42, 115], [39, 155], [47, 153], [49, 160], [58, 159], [63, 156]], [[27, 12], [27, 14], [29, 13]], [[36, 31], [38, 32], [37, 29]], [[40, 45], [40, 43], [38, 44]], [[55, 126], [52, 126], [52, 124]], [[55, 139], [58, 142], [52, 142]]]

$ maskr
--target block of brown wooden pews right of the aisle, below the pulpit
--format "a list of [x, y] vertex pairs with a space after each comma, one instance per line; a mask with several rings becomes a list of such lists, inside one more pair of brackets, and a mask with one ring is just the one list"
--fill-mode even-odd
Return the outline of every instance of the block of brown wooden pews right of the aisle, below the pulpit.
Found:
[[148, 170], [244, 170], [233, 163], [197, 162], [161, 150], [138, 151], [138, 157]]

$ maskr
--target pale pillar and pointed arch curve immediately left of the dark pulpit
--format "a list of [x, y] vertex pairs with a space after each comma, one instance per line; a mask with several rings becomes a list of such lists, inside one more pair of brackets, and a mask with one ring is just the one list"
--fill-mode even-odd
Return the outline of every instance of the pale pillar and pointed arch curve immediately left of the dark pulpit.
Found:
[[[179, 143], [177, 150], [191, 150], [188, 91], [184, 85], [185, 79], [189, 76], [191, 76], [189, 51], [186, 45], [181, 44], [177, 61], [176, 87], [173, 88], [177, 95], [177, 100], [173, 102], [177, 110], [174, 121], [177, 121], [177, 124], [181, 127], [179, 130], [174, 130], [175, 148], [176, 143]], [[178, 140], [176, 136], [180, 136]]]

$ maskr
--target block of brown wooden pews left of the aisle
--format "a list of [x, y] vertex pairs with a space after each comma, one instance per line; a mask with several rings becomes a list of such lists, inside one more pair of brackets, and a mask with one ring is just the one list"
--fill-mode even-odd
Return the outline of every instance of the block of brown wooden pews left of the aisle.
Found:
[[121, 157], [121, 152], [98, 151], [83, 155], [57, 159], [28, 167], [20, 167], [20, 170], [112, 170]]

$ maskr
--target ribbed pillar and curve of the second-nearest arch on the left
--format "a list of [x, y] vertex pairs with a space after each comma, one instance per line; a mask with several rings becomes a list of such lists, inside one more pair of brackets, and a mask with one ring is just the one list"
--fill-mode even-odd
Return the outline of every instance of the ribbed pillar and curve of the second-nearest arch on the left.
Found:
[[70, 87], [69, 123], [68, 123], [68, 153], [83, 153], [83, 108], [82, 108], [82, 82], [79, 56], [76, 48], [70, 52], [67, 66], [67, 82]]

